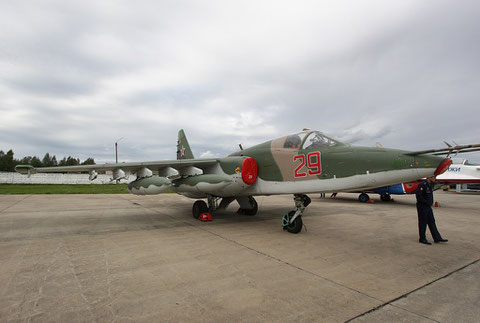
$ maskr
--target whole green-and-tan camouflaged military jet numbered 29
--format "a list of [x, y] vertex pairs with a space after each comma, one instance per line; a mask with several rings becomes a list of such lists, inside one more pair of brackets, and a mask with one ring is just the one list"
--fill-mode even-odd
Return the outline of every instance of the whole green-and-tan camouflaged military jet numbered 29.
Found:
[[[472, 151], [479, 145], [450, 147], [450, 151]], [[443, 149], [445, 151], [445, 149]], [[449, 158], [432, 156], [440, 150], [411, 152], [381, 147], [355, 147], [319, 131], [304, 131], [240, 150], [223, 158], [195, 159], [185, 133], [180, 130], [177, 160], [119, 164], [33, 168], [19, 165], [23, 174], [112, 171], [112, 180], [135, 174], [130, 193], [159, 194], [167, 189], [198, 199], [194, 218], [226, 208], [236, 200], [238, 213], [255, 215], [254, 196], [293, 194], [295, 209], [283, 218], [283, 229], [298, 233], [302, 215], [310, 203], [308, 193], [351, 192], [413, 181], [443, 173]], [[205, 200], [207, 202], [205, 202]]]

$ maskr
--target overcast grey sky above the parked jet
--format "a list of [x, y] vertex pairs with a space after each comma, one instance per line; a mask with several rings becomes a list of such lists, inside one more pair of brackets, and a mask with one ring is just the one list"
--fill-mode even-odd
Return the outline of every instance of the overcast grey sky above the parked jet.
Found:
[[[318, 129], [480, 143], [479, 1], [1, 1], [0, 150], [224, 156]], [[468, 156], [480, 161], [480, 153]]]

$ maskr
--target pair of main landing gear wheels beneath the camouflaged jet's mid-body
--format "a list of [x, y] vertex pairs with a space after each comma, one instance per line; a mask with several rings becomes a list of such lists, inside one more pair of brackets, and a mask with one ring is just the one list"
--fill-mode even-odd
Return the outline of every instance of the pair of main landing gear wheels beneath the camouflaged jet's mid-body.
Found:
[[[219, 200], [221, 199], [220, 203]], [[212, 214], [216, 210], [226, 209], [227, 206], [232, 203], [234, 200], [237, 200], [240, 208], [238, 209], [238, 214], [244, 215], [255, 215], [258, 211], [258, 203], [253, 198], [253, 196], [242, 196], [242, 197], [216, 197], [212, 195], [208, 195], [207, 201], [208, 204], [204, 200], [197, 200], [193, 203], [192, 207], [192, 215], [195, 219], [198, 219], [202, 213], [210, 213]]]

